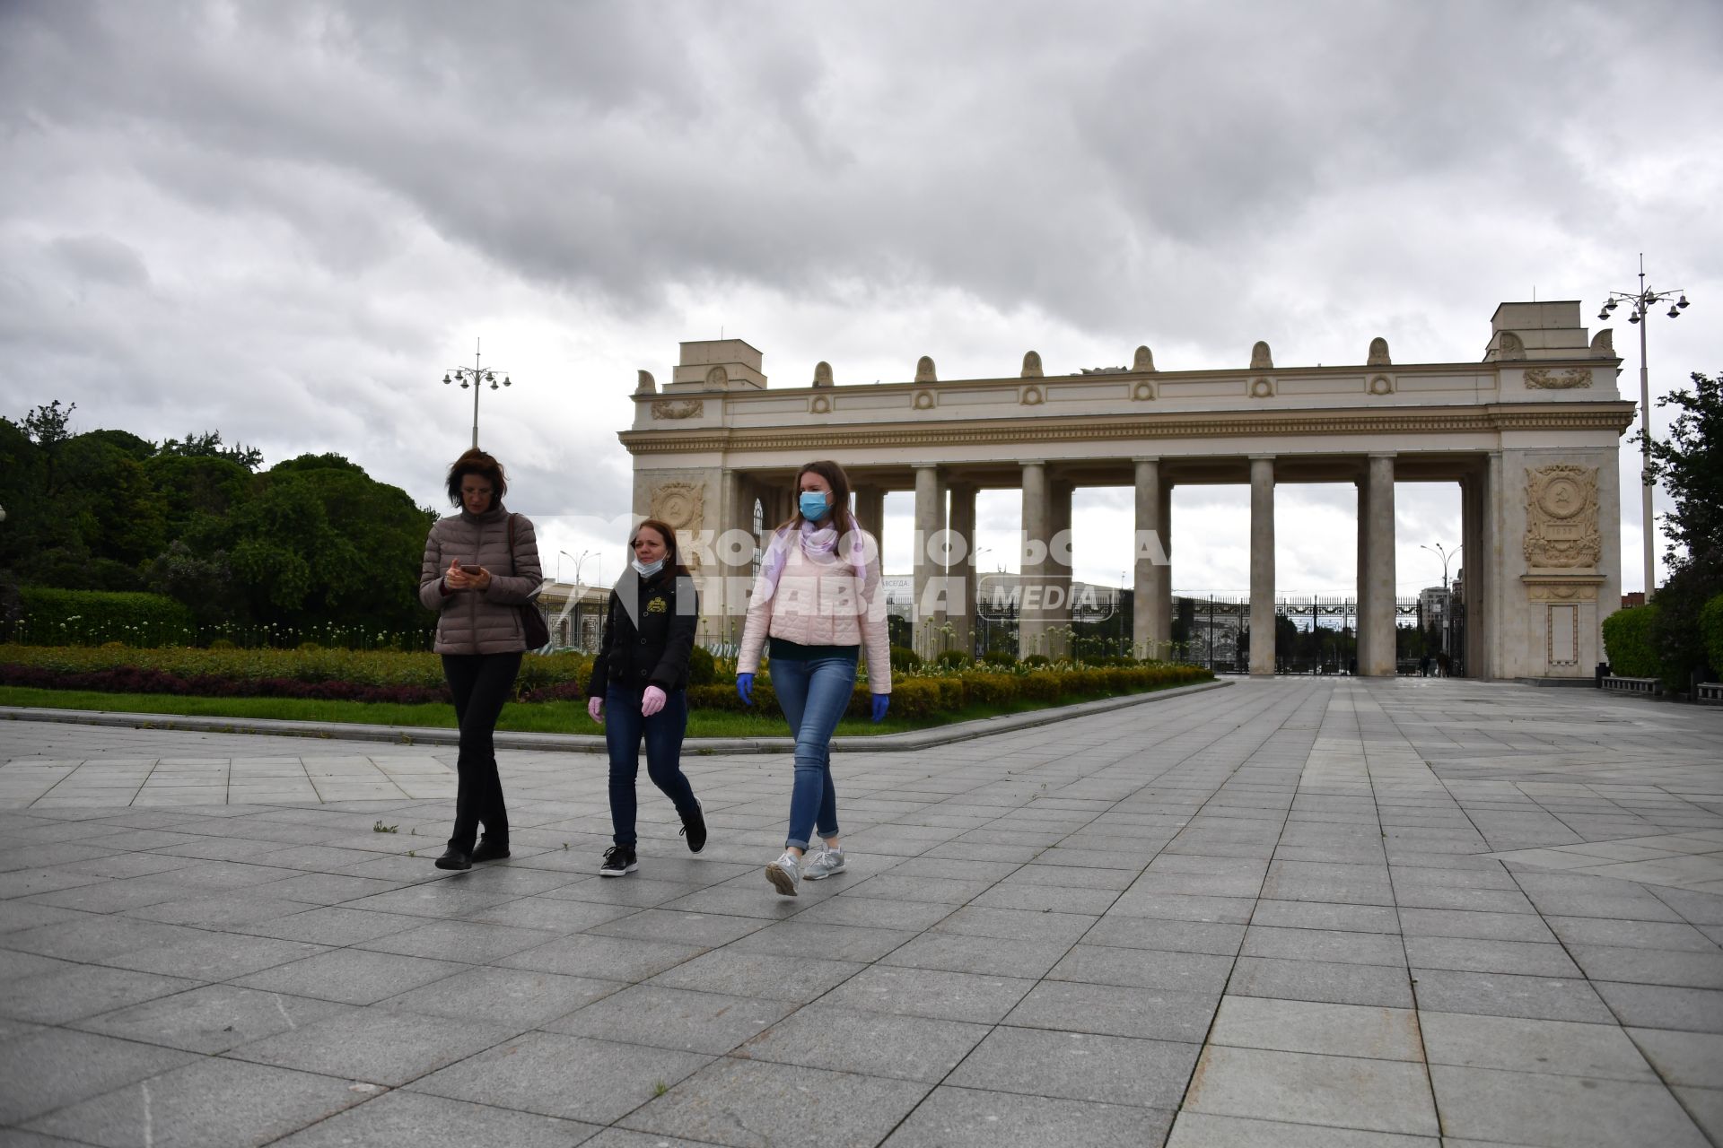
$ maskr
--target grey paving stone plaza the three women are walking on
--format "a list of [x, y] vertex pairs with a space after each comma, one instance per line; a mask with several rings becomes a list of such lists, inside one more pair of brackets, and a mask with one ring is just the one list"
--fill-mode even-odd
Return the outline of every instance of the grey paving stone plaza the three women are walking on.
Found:
[[[1723, 1143], [1723, 711], [1278, 678], [834, 762], [0, 726], [0, 1143]], [[377, 831], [377, 826], [396, 826]], [[417, 855], [412, 855], [415, 854]]]

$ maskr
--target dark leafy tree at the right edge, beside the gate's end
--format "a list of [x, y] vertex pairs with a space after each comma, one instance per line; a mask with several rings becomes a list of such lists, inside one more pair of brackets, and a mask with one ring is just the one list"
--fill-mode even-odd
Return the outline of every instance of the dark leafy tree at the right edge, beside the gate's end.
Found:
[[[1651, 473], [1673, 503], [1663, 518], [1670, 575], [1658, 589], [1652, 645], [1664, 685], [1676, 690], [1707, 670], [1701, 611], [1723, 594], [1723, 373], [1694, 372], [1692, 380], [1692, 391], [1658, 399], [1658, 406], [1673, 406], [1680, 415], [1668, 439], [1651, 441]], [[1633, 441], [1642, 442], [1644, 432]]]

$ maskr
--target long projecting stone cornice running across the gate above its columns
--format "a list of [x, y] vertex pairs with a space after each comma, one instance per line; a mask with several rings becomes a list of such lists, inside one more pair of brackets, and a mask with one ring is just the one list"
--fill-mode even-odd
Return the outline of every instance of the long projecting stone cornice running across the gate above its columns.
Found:
[[[936, 384], [937, 386], [937, 384]], [[703, 451], [808, 451], [820, 447], [1013, 446], [1142, 439], [1284, 439], [1325, 434], [1480, 434], [1501, 430], [1625, 432], [1635, 404], [1490, 403], [1480, 406], [1161, 411], [965, 422], [818, 423], [798, 427], [689, 427], [622, 430], [631, 454]]]

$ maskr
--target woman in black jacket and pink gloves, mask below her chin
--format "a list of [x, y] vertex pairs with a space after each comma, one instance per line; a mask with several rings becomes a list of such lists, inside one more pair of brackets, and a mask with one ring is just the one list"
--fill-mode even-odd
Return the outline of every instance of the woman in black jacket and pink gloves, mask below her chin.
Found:
[[[605, 852], [600, 876], [634, 873], [634, 776], [641, 738], [646, 775], [682, 816], [687, 847], [706, 847], [706, 819], [694, 788], [682, 775], [682, 735], [687, 731], [687, 657], [694, 649], [700, 599], [682, 566], [675, 530], [656, 518], [634, 527], [634, 561], [610, 590], [605, 637], [586, 683], [586, 713], [605, 726], [610, 749], [610, 823], [615, 845]], [[605, 719], [608, 713], [608, 721]]]

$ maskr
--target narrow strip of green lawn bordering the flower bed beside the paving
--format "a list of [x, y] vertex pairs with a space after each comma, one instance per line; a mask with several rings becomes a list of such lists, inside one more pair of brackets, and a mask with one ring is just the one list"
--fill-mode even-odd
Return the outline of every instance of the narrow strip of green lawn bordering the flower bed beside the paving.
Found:
[[[1085, 699], [1065, 699], [1070, 704]], [[1092, 701], [1092, 699], [1091, 699]], [[0, 687], [0, 706], [38, 706], [43, 709], [105, 709], [129, 714], [174, 714], [202, 718], [272, 718], [279, 721], [353, 721], [360, 725], [389, 726], [443, 726], [455, 728], [455, 711], [450, 706], [395, 706], [381, 702], [320, 702], [300, 697], [183, 697], [179, 694], [100, 694], [95, 690], [36, 690], [26, 687]], [[1046, 709], [1048, 702], [1018, 702], [1008, 707], [970, 706], [955, 714], [941, 714], [920, 721], [887, 716], [886, 721], [856, 721], [844, 718], [839, 735], [901, 733], [925, 730], [953, 721], [992, 718], [1001, 713]], [[601, 728], [586, 716], [582, 702], [534, 702], [503, 706], [498, 730], [520, 733], [600, 733]], [[782, 737], [787, 730], [777, 718], [713, 713], [696, 709], [687, 718], [687, 737]]]

